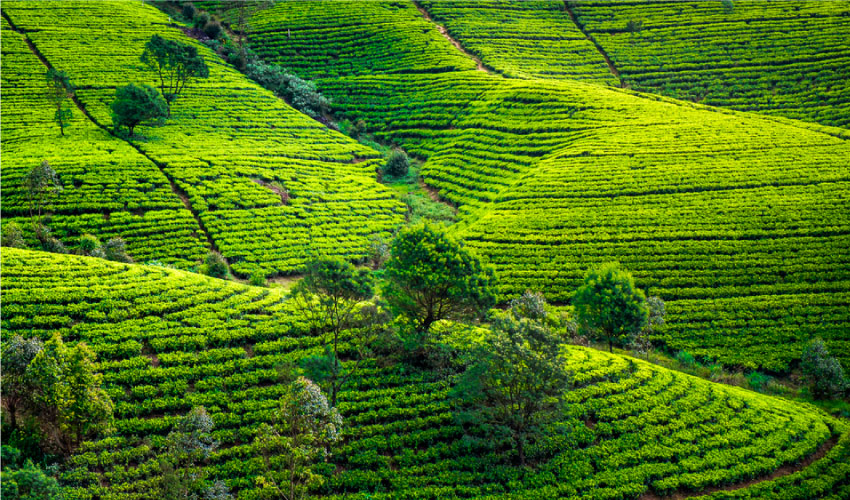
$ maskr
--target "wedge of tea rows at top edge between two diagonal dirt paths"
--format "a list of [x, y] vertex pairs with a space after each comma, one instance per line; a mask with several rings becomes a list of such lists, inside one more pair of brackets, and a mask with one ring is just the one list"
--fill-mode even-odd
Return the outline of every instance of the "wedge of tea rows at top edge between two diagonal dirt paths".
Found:
[[423, 1], [431, 17], [484, 64], [509, 77], [619, 86], [559, 0]]

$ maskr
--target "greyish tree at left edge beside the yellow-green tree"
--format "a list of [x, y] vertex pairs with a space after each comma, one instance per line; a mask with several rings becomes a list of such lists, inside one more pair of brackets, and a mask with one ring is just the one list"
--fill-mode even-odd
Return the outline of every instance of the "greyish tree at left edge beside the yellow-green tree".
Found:
[[18, 415], [32, 410], [34, 387], [27, 368], [42, 347], [41, 340], [24, 339], [20, 335], [2, 343], [0, 357], [3, 360], [3, 371], [0, 373], [0, 389], [3, 391], [3, 398], [0, 403], [9, 415], [10, 433], [18, 428]]

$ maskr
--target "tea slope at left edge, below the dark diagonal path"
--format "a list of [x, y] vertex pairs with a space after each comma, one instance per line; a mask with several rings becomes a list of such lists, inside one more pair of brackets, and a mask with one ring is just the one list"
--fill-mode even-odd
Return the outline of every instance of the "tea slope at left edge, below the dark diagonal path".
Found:
[[47, 68], [5, 19], [2, 53], [4, 221], [32, 232], [25, 176], [47, 161], [63, 186], [45, 207], [52, 213], [47, 224], [61, 240], [72, 244], [86, 232], [104, 240], [120, 236], [139, 261], [189, 267], [200, 260], [206, 244], [200, 227], [153, 162], [98, 128], [73, 103], [73, 118], [61, 135], [47, 99]]

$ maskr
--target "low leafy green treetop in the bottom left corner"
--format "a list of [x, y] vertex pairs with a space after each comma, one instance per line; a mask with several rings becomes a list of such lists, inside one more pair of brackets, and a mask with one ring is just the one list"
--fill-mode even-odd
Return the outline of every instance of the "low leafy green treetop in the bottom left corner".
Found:
[[49, 474], [27, 460], [20, 465], [20, 452], [3, 445], [0, 473], [3, 500], [62, 500], [64, 495], [59, 482]]

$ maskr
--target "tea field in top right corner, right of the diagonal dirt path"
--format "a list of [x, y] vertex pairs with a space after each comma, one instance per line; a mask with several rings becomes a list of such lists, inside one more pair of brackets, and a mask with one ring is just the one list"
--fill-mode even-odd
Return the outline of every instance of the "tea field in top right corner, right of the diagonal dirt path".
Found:
[[634, 89], [850, 126], [848, 2], [570, 5]]

